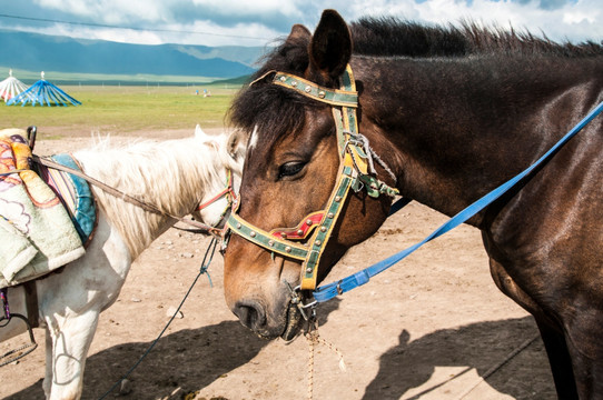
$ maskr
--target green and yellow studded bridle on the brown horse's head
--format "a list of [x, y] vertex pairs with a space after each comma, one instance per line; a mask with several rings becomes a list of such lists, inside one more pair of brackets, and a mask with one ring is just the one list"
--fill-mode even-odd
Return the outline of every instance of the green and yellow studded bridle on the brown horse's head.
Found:
[[[373, 153], [366, 138], [358, 133], [356, 119], [358, 93], [349, 66], [339, 78], [340, 89], [324, 88], [304, 78], [285, 72], [271, 71], [269, 73], [274, 73], [273, 84], [294, 90], [297, 93], [332, 106], [340, 157], [337, 181], [326, 207], [320, 211], [309, 213], [295, 228], [278, 228], [268, 232], [255, 227], [237, 213], [240, 200], [236, 200], [233, 204], [233, 212], [226, 222], [226, 230], [230, 230], [270, 252], [302, 260], [302, 282], [293, 291], [314, 290], [320, 257], [340, 214], [349, 189], [352, 188], [357, 192], [365, 188], [368, 196], [373, 198], [377, 198], [382, 193], [394, 197], [398, 194], [398, 190], [369, 174], [374, 172], [373, 156], [377, 161], [382, 161]], [[269, 73], [260, 79], [266, 78]], [[386, 166], [384, 167], [388, 170]]]

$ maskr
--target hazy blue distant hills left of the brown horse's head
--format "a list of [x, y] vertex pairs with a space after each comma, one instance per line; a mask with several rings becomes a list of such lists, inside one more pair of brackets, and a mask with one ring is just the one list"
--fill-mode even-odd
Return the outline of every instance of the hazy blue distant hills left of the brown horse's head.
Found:
[[128, 44], [0, 30], [0, 66], [28, 71], [231, 79], [253, 73], [264, 51], [260, 47]]

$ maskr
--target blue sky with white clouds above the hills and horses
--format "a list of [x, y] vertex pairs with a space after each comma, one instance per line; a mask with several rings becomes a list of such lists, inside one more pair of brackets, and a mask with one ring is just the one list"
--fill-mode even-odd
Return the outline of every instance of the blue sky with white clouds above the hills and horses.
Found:
[[556, 41], [603, 40], [602, 0], [19, 0], [2, 2], [0, 29], [149, 44], [266, 46], [294, 23], [314, 30], [325, 8], [347, 21], [472, 19]]

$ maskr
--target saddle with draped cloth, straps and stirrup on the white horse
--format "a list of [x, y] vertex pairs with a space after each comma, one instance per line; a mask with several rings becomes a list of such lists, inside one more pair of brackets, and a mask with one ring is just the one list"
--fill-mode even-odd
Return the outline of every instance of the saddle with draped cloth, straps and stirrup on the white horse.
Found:
[[[0, 367], [38, 347], [32, 331], [39, 326], [34, 279], [83, 256], [97, 226], [88, 182], [39, 162], [32, 154], [36, 128], [28, 129], [28, 140], [23, 133], [0, 130], [0, 328], [20, 320], [29, 341], [0, 354]], [[51, 160], [81, 171], [69, 154]], [[10, 312], [7, 288], [16, 284], [24, 288], [27, 317]]]

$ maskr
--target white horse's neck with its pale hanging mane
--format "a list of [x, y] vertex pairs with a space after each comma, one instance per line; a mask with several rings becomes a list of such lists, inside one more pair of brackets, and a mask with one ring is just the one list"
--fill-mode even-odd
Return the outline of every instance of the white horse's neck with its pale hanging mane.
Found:
[[126, 242], [132, 260], [192, 212], [205, 190], [221, 181], [216, 151], [195, 139], [139, 142], [125, 149], [92, 149], [73, 156], [92, 178], [155, 206], [165, 214], [142, 210], [92, 187], [99, 209]]

